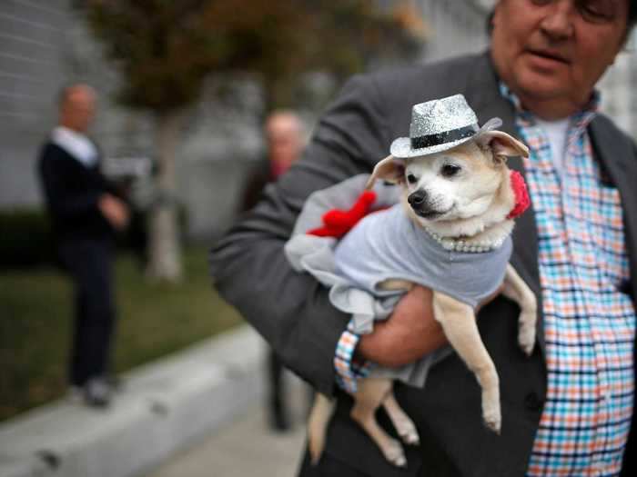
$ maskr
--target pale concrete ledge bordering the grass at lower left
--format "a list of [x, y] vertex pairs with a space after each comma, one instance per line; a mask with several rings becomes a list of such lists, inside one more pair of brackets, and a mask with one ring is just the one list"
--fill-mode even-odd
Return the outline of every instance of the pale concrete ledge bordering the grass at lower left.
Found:
[[[265, 351], [257, 334], [241, 326], [127, 373], [124, 391], [107, 410], [60, 400], [2, 422], [0, 477], [150, 472], [180, 449], [227, 429], [238, 416], [254, 414], [263, 401]], [[261, 446], [253, 437], [265, 427], [257, 422], [238, 437], [247, 449]], [[243, 455], [238, 452], [238, 461]], [[208, 466], [207, 476], [217, 475]]]

